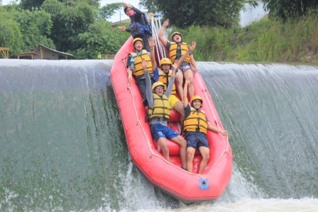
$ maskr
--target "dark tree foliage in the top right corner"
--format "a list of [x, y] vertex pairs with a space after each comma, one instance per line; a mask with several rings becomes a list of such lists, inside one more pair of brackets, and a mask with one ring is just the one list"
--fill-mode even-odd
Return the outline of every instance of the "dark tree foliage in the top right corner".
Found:
[[307, 16], [308, 11], [318, 13], [317, 0], [263, 0], [265, 11], [269, 11], [270, 18], [300, 18]]

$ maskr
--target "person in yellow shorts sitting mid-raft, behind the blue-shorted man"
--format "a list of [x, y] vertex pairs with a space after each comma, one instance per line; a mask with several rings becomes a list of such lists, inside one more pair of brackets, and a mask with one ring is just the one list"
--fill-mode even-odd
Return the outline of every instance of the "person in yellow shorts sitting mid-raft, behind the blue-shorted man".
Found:
[[[194, 50], [196, 47], [197, 43], [195, 41], [192, 42], [192, 46], [190, 46], [185, 52], [182, 57], [180, 57], [180, 60], [178, 60], [178, 63], [181, 64], [185, 58]], [[177, 72], [177, 70], [176, 70]], [[163, 58], [160, 60], [160, 69], [156, 69], [154, 72], [154, 77], [156, 82], [163, 82], [165, 84], [165, 88], [168, 87], [170, 84], [170, 79], [172, 75], [172, 62], [169, 58]], [[183, 104], [179, 99], [177, 99], [177, 96], [175, 94], [177, 93], [175, 89], [175, 84], [172, 85], [172, 91], [169, 96], [169, 103], [171, 108], [173, 108], [177, 113], [180, 113], [180, 126], [181, 129], [183, 128], [183, 121], [185, 120], [185, 110], [183, 108]], [[182, 132], [182, 130], [180, 131]]]

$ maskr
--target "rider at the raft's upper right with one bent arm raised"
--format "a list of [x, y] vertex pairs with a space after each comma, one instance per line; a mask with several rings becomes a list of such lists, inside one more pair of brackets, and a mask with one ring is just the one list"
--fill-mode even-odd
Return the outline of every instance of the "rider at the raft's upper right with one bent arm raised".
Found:
[[[182, 41], [182, 35], [178, 32], [172, 33], [171, 42], [163, 36], [165, 33], [165, 28], [169, 26], [169, 19], [163, 22], [163, 27], [160, 29], [158, 38], [161, 43], [167, 48], [170, 56], [171, 62], [174, 62], [175, 59], [180, 60], [180, 57], [187, 52], [187, 43]], [[193, 77], [192, 67], [194, 68], [194, 73], [197, 72], [197, 62], [195, 62], [192, 52], [188, 57], [185, 58], [185, 61], [182, 62], [180, 69], [182, 72], [177, 72], [175, 79], [177, 82], [177, 93], [180, 96], [181, 101], [183, 102], [183, 78]], [[191, 82], [188, 85], [189, 96], [192, 98], [194, 95], [194, 85]]]

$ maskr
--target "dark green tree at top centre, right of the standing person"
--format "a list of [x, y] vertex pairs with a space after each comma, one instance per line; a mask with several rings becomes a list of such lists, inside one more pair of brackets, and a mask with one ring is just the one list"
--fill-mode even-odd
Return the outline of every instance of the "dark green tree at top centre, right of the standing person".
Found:
[[229, 28], [238, 25], [239, 13], [245, 3], [257, 5], [250, 0], [141, 0], [148, 11], [155, 8], [163, 12], [164, 18], [180, 28], [192, 25]]

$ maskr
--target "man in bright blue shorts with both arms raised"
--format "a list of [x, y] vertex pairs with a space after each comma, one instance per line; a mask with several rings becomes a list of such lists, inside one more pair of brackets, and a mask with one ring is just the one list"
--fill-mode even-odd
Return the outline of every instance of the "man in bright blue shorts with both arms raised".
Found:
[[169, 103], [169, 96], [172, 91], [173, 84], [175, 82], [175, 69], [178, 67], [177, 60], [172, 65], [173, 71], [170, 77], [170, 83], [168, 84], [167, 89], [162, 82], [155, 82], [151, 85], [150, 76], [147, 70], [148, 62], [143, 58], [143, 72], [146, 77], [147, 84], [147, 100], [148, 100], [148, 114], [149, 114], [149, 125], [151, 129], [151, 135], [163, 150], [163, 157], [165, 157], [168, 162], [171, 162], [169, 156], [169, 149], [167, 146], [166, 139], [170, 139], [173, 142], [180, 145], [180, 158], [182, 162], [182, 169], [186, 170], [186, 151], [187, 151], [187, 142], [182, 136], [175, 132], [174, 130], [168, 128], [167, 120], [170, 117], [171, 106]]

